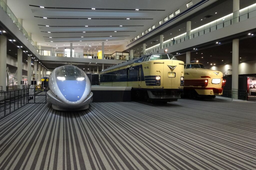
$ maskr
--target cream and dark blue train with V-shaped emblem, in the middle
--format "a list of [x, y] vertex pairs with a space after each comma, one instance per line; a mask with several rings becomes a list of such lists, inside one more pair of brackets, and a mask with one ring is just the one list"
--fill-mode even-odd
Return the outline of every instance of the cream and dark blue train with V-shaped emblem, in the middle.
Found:
[[139, 99], [177, 101], [183, 92], [184, 62], [172, 54], [152, 54], [101, 71], [101, 86], [132, 87]]

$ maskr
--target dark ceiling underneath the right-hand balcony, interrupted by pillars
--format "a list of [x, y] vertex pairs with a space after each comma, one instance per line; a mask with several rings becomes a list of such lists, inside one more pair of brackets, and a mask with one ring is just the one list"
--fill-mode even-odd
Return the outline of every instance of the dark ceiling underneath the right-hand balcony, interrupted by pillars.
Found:
[[[248, 35], [248, 38], [239, 41], [239, 62], [256, 60], [255, 42], [256, 37], [250, 37], [250, 35]], [[186, 53], [173, 55], [176, 55], [178, 60], [186, 62]], [[202, 50], [195, 50], [191, 52], [190, 59], [199, 60], [204, 66], [211, 66], [210, 64], [230, 64], [232, 63], [232, 42], [216, 44], [215, 46], [204, 48]]]

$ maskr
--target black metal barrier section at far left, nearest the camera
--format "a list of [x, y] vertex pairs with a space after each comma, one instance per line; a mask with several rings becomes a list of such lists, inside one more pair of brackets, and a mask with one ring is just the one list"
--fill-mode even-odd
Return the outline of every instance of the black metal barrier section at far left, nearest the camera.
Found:
[[0, 92], [0, 119], [28, 104], [28, 89]]

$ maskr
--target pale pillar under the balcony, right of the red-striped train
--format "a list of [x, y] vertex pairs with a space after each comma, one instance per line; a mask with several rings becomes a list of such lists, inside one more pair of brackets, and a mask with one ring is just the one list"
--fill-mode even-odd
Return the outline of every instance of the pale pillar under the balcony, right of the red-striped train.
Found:
[[[232, 42], [232, 91], [238, 93], [238, 63], [239, 63], [239, 39]], [[238, 99], [238, 94], [233, 93], [233, 99]]]

